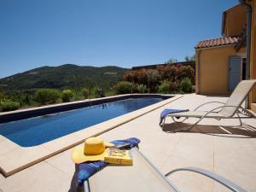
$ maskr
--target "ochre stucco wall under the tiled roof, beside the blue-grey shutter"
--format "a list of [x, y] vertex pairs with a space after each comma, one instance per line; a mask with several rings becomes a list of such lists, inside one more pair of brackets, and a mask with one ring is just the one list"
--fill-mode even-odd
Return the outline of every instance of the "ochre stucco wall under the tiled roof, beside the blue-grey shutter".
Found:
[[[200, 53], [201, 51], [201, 53]], [[198, 94], [227, 95], [228, 91], [228, 67], [230, 55], [245, 54], [246, 49], [241, 48], [238, 52], [233, 46], [196, 49], [196, 86]], [[200, 69], [198, 61], [200, 60]], [[199, 71], [200, 70], [200, 71]], [[200, 76], [200, 77], [199, 77]]]

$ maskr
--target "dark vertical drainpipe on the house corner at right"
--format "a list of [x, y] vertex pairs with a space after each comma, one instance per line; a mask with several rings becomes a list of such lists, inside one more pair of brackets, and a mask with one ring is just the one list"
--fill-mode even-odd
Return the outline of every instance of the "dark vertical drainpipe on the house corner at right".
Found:
[[[250, 55], [251, 55], [251, 26], [252, 26], [252, 6], [246, 3], [246, 0], [239, 0], [241, 6], [247, 9], [247, 63], [246, 63], [246, 79], [250, 79]], [[249, 98], [247, 97], [245, 107], [248, 108]]]

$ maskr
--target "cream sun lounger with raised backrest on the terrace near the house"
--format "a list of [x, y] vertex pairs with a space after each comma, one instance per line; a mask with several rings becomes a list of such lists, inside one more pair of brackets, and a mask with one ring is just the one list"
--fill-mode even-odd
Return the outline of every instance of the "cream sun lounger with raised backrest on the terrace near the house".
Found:
[[[218, 108], [213, 108], [210, 111], [198, 111], [199, 108], [205, 106], [206, 104], [212, 102], [206, 102], [197, 108], [194, 111], [182, 112], [182, 113], [170, 113], [166, 115], [163, 120], [162, 128], [166, 123], [166, 118], [171, 117], [174, 122], [183, 122], [189, 118], [199, 118], [195, 124], [190, 125], [189, 127], [178, 128], [175, 131], [189, 131], [192, 127], [197, 125], [202, 119], [213, 118], [213, 119], [239, 119], [240, 125], [246, 125], [241, 122], [241, 119], [256, 118], [256, 116], [251, 113], [249, 110], [242, 108], [241, 104], [247, 98], [249, 92], [253, 89], [253, 86], [256, 84], [256, 79], [252, 80], [243, 80], [237, 84], [236, 89], [231, 94], [227, 102], [216, 102], [221, 103], [223, 106]], [[218, 110], [218, 111], [217, 111]], [[178, 120], [177, 118], [184, 118]], [[250, 125], [247, 125], [250, 126]], [[253, 127], [255, 128], [255, 127]]]

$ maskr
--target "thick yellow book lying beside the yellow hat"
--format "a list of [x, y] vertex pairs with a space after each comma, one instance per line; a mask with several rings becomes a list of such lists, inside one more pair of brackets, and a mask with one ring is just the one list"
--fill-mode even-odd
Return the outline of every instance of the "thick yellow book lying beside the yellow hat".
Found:
[[110, 164], [132, 166], [131, 150], [107, 148], [104, 161]]

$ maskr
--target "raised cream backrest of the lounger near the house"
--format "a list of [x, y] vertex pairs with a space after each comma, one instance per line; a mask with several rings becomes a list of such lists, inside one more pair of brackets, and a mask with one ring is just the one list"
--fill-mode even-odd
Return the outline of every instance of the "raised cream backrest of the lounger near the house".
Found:
[[224, 106], [235, 106], [236, 108], [224, 107], [218, 113], [221, 113], [226, 117], [232, 117], [241, 106], [241, 103], [245, 101], [247, 95], [253, 89], [255, 84], [256, 79], [243, 80], [237, 84], [236, 89], [232, 92], [230, 98], [224, 104]]

